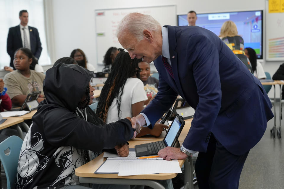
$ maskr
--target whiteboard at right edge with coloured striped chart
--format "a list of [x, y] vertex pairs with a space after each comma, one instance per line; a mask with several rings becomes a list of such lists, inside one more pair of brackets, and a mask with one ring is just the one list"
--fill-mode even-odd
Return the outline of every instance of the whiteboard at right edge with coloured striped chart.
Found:
[[284, 61], [284, 12], [268, 13], [268, 1], [266, 1], [266, 60]]

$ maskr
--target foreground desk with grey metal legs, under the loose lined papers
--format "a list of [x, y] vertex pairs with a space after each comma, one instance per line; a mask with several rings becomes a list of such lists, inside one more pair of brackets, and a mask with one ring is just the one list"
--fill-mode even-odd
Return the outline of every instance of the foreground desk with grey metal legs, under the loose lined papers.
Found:
[[[149, 141], [129, 141], [129, 147], [145, 144]], [[147, 185], [154, 189], [165, 189], [155, 180], [171, 179], [177, 176], [177, 173], [160, 173], [146, 175], [118, 176], [118, 174], [94, 174], [94, 172], [106, 160], [103, 154], [99, 155], [92, 161], [75, 169], [75, 175], [79, 177], [80, 183], [99, 183], [99, 184], [126, 184], [126, 185]], [[193, 189], [193, 165], [192, 159], [178, 160], [180, 167], [185, 166], [185, 189]]]

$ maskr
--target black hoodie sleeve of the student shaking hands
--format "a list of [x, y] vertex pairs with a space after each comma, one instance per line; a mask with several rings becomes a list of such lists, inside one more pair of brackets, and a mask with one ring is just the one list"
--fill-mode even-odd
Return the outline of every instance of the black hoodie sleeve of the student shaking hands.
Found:
[[71, 145], [77, 149], [99, 152], [114, 148], [133, 137], [128, 119], [105, 125], [93, 124], [61, 107], [46, 110], [42, 123], [46, 140], [54, 146]]

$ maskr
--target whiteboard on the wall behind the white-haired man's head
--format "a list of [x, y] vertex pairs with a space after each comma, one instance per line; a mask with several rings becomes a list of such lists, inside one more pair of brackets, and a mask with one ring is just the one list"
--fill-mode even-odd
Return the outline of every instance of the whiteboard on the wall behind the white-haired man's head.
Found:
[[110, 47], [122, 48], [115, 33], [120, 20], [131, 12], [149, 14], [162, 26], [176, 25], [175, 5], [95, 10], [97, 64], [103, 64], [104, 55]]

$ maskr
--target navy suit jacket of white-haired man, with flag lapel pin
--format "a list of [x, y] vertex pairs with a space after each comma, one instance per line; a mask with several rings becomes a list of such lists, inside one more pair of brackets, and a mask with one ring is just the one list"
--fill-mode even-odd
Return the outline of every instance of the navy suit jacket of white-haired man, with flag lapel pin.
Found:
[[262, 84], [213, 32], [196, 26], [164, 27], [175, 79], [159, 56], [154, 61], [159, 92], [142, 112], [154, 125], [180, 94], [196, 109], [185, 148], [206, 152], [213, 133], [232, 154], [249, 151], [273, 118]]

